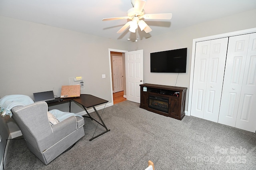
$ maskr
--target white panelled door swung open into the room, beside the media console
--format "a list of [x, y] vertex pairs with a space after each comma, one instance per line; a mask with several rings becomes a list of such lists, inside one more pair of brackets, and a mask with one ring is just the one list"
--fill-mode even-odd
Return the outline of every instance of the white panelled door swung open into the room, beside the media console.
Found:
[[140, 103], [140, 84], [143, 83], [143, 49], [125, 53], [126, 99]]

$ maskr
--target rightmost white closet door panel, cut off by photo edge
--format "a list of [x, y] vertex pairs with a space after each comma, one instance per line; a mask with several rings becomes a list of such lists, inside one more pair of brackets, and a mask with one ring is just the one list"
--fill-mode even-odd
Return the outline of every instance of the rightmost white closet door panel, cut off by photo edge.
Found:
[[256, 33], [250, 34], [235, 127], [256, 131]]

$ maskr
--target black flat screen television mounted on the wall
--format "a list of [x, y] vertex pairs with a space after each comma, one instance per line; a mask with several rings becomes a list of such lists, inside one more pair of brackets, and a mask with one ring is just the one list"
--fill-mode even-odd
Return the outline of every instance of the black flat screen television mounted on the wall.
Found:
[[151, 73], [186, 73], [187, 48], [150, 53]]

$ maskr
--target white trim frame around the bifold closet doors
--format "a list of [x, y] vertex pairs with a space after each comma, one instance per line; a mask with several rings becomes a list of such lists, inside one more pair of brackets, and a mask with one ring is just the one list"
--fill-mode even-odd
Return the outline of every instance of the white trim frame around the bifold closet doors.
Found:
[[250, 34], [256, 32], [256, 28], [250, 28], [246, 30], [240, 30], [235, 32], [228, 32], [224, 34], [218, 34], [214, 36], [208, 36], [208, 37], [202, 37], [202, 38], [196, 38], [193, 39], [192, 44], [192, 55], [191, 55], [191, 67], [190, 67], [190, 82], [189, 82], [189, 91], [188, 91], [188, 112], [187, 115], [191, 115], [191, 104], [192, 104], [192, 89], [193, 89], [193, 79], [194, 79], [194, 64], [195, 64], [195, 55], [196, 55], [196, 43], [206, 40], [213, 40], [218, 38], [225, 38], [225, 37], [231, 37], [231, 36], [238, 36], [242, 34]]

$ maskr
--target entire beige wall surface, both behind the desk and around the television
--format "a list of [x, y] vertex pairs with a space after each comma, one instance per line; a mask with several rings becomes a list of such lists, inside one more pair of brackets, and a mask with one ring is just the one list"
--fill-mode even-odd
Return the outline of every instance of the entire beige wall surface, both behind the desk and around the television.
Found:
[[[0, 16], [0, 96], [32, 97], [34, 92], [47, 90], [60, 96], [61, 86], [69, 84], [69, 77], [83, 76], [85, 89], [81, 93], [111, 101], [109, 48], [143, 49], [144, 83], [175, 85], [178, 76], [176, 86], [189, 87], [192, 40], [254, 28], [255, 20], [256, 9], [138, 42], [120, 42]], [[150, 73], [151, 52], [183, 47], [188, 47], [186, 73]], [[186, 110], [187, 106], [186, 102]], [[82, 109], [74, 112], [78, 111]]]

